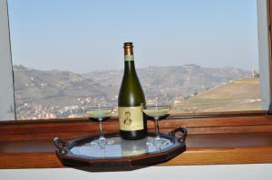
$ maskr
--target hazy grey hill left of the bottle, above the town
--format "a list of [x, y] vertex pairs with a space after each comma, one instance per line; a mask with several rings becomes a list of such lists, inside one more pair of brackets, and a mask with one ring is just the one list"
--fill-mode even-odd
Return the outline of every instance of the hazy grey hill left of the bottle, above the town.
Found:
[[16, 103], [67, 106], [84, 97], [107, 97], [111, 88], [70, 71], [38, 71], [15, 66]]

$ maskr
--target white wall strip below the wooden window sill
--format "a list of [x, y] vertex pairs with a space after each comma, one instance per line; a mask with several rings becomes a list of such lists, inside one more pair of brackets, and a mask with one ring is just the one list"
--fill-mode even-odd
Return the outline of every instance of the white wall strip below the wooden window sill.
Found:
[[271, 180], [272, 165], [152, 166], [130, 172], [90, 173], [81, 170], [0, 170], [1, 180]]

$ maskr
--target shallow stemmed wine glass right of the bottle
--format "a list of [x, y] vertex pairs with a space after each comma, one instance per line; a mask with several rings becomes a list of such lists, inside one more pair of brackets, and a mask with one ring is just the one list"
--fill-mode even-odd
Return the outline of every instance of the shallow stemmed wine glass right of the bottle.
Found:
[[171, 107], [170, 105], [147, 105], [142, 108], [142, 111], [148, 116], [155, 119], [155, 129], [156, 129], [156, 137], [151, 141], [147, 142], [148, 146], [167, 146], [169, 145], [170, 139], [160, 137], [160, 127], [159, 127], [159, 119], [168, 115]]

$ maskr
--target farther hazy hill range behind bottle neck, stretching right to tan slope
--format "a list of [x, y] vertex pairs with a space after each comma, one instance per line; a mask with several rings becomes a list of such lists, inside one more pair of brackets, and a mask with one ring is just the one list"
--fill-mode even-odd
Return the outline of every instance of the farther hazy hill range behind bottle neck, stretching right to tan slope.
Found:
[[[176, 67], [147, 67], [137, 69], [147, 99], [155, 97], [169, 100], [186, 97], [199, 91], [238, 78], [250, 77], [250, 71], [236, 68], [203, 68], [195, 64]], [[118, 93], [123, 71], [91, 71], [84, 77], [111, 87]]]

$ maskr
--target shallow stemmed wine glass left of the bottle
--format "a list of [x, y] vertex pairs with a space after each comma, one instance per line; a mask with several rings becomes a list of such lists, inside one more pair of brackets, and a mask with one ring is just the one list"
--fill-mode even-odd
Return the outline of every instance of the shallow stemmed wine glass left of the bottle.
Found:
[[99, 121], [99, 130], [100, 137], [91, 142], [91, 145], [99, 145], [104, 147], [106, 145], [112, 145], [114, 141], [112, 139], [108, 139], [104, 136], [103, 132], [103, 124], [102, 121], [105, 118], [110, 118], [112, 116], [112, 107], [98, 107], [98, 108], [88, 108], [86, 109], [86, 114], [89, 118], [95, 118]]

